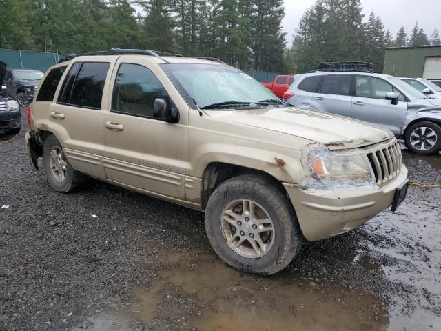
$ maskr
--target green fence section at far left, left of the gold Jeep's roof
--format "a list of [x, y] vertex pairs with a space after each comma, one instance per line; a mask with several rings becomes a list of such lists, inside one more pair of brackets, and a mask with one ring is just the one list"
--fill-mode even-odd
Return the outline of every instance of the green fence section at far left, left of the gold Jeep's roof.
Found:
[[64, 54], [0, 48], [0, 61], [6, 63], [7, 68], [37, 69], [45, 72], [63, 57]]

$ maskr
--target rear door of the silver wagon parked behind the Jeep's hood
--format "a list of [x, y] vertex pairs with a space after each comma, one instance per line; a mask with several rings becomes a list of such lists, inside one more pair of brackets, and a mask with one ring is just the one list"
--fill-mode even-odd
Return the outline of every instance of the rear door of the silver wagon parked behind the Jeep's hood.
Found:
[[318, 92], [311, 94], [311, 102], [320, 112], [351, 117], [351, 88], [351, 75], [329, 74], [321, 81]]

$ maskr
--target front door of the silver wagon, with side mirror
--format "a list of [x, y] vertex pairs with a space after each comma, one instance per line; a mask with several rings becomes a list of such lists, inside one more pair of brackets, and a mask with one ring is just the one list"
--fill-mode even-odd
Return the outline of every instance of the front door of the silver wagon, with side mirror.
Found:
[[[357, 75], [355, 81], [352, 117], [387, 128], [396, 135], [400, 134], [407, 112], [404, 95], [378, 77]], [[384, 99], [388, 92], [398, 93], [398, 105]]]

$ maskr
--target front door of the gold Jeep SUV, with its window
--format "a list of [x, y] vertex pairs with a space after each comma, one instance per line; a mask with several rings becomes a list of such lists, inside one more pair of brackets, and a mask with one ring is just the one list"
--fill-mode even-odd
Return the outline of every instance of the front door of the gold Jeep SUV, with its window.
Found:
[[105, 172], [112, 181], [183, 200], [186, 126], [153, 117], [156, 98], [173, 101], [149, 63], [132, 62], [119, 60], [112, 77], [110, 111], [102, 123]]

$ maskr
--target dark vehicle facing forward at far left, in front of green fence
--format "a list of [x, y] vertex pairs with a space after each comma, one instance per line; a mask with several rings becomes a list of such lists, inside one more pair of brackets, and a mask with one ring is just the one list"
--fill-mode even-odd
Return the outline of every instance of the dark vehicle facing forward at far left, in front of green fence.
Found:
[[34, 91], [37, 90], [43, 72], [33, 69], [8, 69], [3, 84], [6, 86], [6, 93], [15, 98], [20, 106], [28, 106], [34, 98]]

